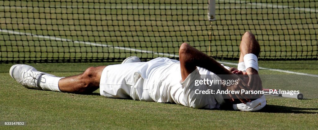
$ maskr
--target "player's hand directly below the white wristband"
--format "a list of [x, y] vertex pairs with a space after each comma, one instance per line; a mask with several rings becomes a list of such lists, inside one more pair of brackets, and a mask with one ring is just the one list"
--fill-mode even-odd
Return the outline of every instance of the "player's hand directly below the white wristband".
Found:
[[246, 73], [248, 74], [248, 77], [249, 77], [247, 85], [251, 88], [251, 90], [252, 91], [262, 91], [263, 90], [262, 80], [260, 79], [258, 72], [253, 68], [248, 68], [248, 69], [246, 69]]

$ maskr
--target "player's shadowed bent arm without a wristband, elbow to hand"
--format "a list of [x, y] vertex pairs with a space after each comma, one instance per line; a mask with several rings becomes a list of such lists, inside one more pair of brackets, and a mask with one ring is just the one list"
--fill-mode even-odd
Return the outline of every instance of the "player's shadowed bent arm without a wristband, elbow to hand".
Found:
[[[180, 57], [180, 68], [181, 68], [181, 77], [184, 81], [188, 75], [193, 72], [197, 66], [205, 68], [215, 74], [217, 74], [221, 79], [225, 80], [238, 80], [239, 77], [232, 72], [225, 69], [221, 64], [216, 60], [209, 57], [208, 55], [202, 53], [201, 51], [195, 49], [187, 43], [183, 43], [179, 49]], [[238, 80], [237, 85], [226, 86], [224, 89], [229, 90], [248, 90], [247, 85], [241, 80]], [[228, 95], [232, 101], [235, 98], [238, 98], [242, 103], [250, 102], [251, 100], [245, 94], [229, 94]]]

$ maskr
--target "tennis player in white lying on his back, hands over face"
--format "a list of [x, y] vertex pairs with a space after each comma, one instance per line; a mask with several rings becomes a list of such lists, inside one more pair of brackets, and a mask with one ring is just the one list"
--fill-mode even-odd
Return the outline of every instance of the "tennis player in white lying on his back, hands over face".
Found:
[[[260, 47], [253, 34], [244, 34], [240, 50], [238, 69], [221, 65], [183, 43], [179, 49], [180, 61], [155, 58], [140, 62], [138, 57], [129, 57], [122, 64], [90, 67], [83, 74], [66, 78], [39, 72], [29, 65], [13, 65], [10, 75], [30, 89], [87, 94], [100, 88], [100, 95], [111, 98], [176, 103], [203, 109], [230, 104], [235, 110], [256, 111], [266, 105], [262, 94], [251, 100], [251, 94], [245, 93], [199, 93], [210, 89], [215, 92], [218, 89], [262, 90], [257, 64]], [[198, 84], [204, 76], [210, 80], [221, 78], [236, 82], [229, 86]]]

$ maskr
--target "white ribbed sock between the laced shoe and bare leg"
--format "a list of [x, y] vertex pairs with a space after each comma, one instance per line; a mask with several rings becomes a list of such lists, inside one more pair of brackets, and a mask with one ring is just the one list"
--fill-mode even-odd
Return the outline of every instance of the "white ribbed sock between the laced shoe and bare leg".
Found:
[[40, 83], [38, 85], [43, 90], [61, 92], [61, 90], [59, 90], [59, 80], [64, 77], [56, 77], [51, 74], [44, 74], [44, 75], [41, 75], [39, 78], [40, 78]]

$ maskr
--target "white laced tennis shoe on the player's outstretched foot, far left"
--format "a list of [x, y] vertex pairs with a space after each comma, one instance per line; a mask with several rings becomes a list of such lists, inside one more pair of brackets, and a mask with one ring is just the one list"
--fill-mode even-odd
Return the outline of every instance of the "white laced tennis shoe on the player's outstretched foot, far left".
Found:
[[18, 65], [13, 65], [10, 68], [10, 76], [13, 79], [15, 79], [18, 83], [23, 85], [24, 87], [30, 88], [30, 89], [42, 90], [42, 88], [38, 85], [40, 82], [39, 77], [42, 74], [48, 74], [48, 73], [39, 72], [30, 65], [18, 64]]

